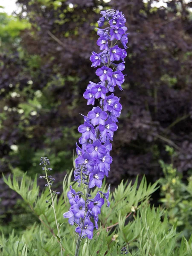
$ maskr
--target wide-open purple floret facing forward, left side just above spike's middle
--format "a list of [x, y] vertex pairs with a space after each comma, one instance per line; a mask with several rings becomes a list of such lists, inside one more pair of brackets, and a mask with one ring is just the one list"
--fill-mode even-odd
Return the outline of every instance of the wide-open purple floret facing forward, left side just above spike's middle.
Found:
[[88, 118], [92, 119], [91, 122], [93, 125], [104, 125], [105, 119], [107, 119], [108, 114], [105, 111], [102, 111], [101, 108], [96, 107], [94, 110], [89, 111], [87, 116]]

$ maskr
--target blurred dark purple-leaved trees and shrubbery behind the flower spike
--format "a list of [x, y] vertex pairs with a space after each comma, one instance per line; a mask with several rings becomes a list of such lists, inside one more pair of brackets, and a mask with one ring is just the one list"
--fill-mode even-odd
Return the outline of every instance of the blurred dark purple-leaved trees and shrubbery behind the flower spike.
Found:
[[[106, 3], [107, 2], [107, 3]], [[0, 172], [17, 167], [41, 175], [49, 156], [59, 183], [73, 167], [82, 97], [96, 82], [90, 54], [102, 9], [122, 10], [129, 35], [123, 106], [107, 182], [163, 175], [172, 163], [192, 169], [192, 3], [184, 0], [17, 0], [20, 12], [0, 13]], [[165, 145], [172, 146], [171, 157]], [[4, 221], [17, 196], [0, 188]], [[157, 201], [157, 200], [156, 200]], [[6, 212], [6, 213], [5, 213]]]

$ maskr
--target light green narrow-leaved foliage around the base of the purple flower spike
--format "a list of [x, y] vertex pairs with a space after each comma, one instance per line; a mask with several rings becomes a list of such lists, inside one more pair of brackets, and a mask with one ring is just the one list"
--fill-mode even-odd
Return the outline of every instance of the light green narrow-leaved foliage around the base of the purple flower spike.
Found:
[[[63, 218], [63, 213], [70, 207], [67, 191], [72, 184], [71, 175], [72, 172], [64, 179], [62, 195], [54, 199], [61, 240], [57, 236], [52, 207], [46, 203], [50, 200], [49, 189], [39, 195], [37, 180], [31, 181], [26, 174], [22, 178], [15, 175], [4, 178], [6, 184], [23, 198], [38, 219], [34, 223], [29, 220], [28, 227], [20, 233], [14, 230], [9, 236], [2, 233], [1, 256], [59, 256], [60, 241], [64, 256], [74, 255], [74, 228]], [[76, 184], [73, 187], [76, 188]], [[116, 256], [120, 255], [123, 246], [131, 256], [192, 255], [192, 237], [189, 241], [183, 237], [178, 246], [180, 238], [176, 231], [177, 224], [170, 227], [166, 211], [150, 206], [151, 195], [157, 188], [157, 182], [147, 186], [145, 177], [139, 186], [137, 180], [133, 185], [122, 181], [110, 195], [111, 206], [108, 208], [104, 205], [102, 208], [99, 229], [95, 231], [93, 240], [84, 239], [80, 255]]]

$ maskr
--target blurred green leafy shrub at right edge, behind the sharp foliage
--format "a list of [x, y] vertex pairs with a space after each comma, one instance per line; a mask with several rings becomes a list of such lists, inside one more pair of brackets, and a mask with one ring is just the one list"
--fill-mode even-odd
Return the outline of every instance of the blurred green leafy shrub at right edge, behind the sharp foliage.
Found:
[[[167, 146], [166, 151], [173, 157], [175, 151]], [[192, 234], [192, 174], [186, 180], [173, 164], [160, 160], [164, 177], [160, 178], [162, 207], [167, 210], [170, 227], [177, 226], [180, 236], [189, 238]]]

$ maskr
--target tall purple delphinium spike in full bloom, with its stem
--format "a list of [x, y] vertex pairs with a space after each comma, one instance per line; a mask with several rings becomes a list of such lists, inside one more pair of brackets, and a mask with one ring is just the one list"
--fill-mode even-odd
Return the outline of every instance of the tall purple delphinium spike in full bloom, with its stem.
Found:
[[[95, 99], [99, 100], [99, 105], [84, 116], [84, 123], [78, 128], [81, 137], [79, 145], [76, 143], [78, 157], [75, 160], [74, 180], [79, 183], [80, 191], [76, 192], [70, 187], [68, 198], [71, 207], [64, 213], [64, 218], [69, 218], [69, 223], [76, 226], [75, 231], [79, 236], [75, 256], [79, 254], [81, 239], [92, 239], [93, 227], [98, 229], [104, 199], [110, 206], [109, 189], [107, 193], [97, 192], [94, 198], [90, 195], [90, 189], [95, 186], [101, 188], [103, 178], [108, 177], [112, 163], [111, 141], [122, 110], [120, 98], [114, 95], [114, 87], [117, 85], [122, 90], [125, 80], [122, 71], [127, 55], [126, 20], [119, 10], [102, 11], [101, 15], [97, 29], [97, 45], [101, 52], [92, 52], [90, 56], [91, 66], [97, 68], [96, 75], [100, 81], [97, 84], [90, 81], [83, 94], [87, 105], [94, 105], [97, 102]], [[104, 25], [105, 28], [101, 29]]]

